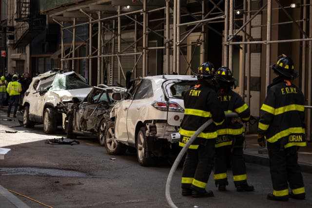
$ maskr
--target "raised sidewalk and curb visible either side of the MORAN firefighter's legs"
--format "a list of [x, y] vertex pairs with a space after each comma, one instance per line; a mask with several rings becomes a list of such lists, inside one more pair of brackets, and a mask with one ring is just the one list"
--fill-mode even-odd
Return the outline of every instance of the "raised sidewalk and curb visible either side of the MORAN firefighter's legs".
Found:
[[[244, 150], [245, 161], [248, 163], [255, 163], [269, 166], [268, 153], [258, 153], [263, 150], [257, 142], [256, 134], [245, 135], [246, 149]], [[306, 147], [300, 147], [298, 151], [298, 163], [303, 172], [312, 173], [312, 142], [307, 142]]]

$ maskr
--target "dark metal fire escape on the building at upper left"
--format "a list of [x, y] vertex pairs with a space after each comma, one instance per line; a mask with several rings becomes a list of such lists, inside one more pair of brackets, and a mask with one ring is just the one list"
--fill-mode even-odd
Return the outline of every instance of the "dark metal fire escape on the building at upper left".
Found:
[[31, 0], [17, 0], [15, 48], [24, 47], [44, 29], [45, 16], [39, 13], [39, 4]]

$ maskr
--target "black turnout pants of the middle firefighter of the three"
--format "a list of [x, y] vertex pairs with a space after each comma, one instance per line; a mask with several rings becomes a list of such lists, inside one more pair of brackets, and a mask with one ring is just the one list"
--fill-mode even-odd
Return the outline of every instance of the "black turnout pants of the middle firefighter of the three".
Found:
[[243, 142], [244, 137], [239, 136], [234, 139], [233, 145], [215, 148], [214, 179], [216, 186], [218, 184], [229, 184], [226, 173], [228, 159], [231, 161], [235, 187], [247, 185], [246, 166], [243, 157]]

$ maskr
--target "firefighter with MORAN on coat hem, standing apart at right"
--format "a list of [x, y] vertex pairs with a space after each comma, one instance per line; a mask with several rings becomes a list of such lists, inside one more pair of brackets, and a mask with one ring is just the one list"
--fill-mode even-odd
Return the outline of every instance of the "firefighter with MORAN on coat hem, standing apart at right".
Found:
[[[288, 201], [305, 199], [298, 149], [305, 141], [305, 98], [291, 81], [298, 77], [292, 59], [282, 55], [272, 65], [275, 78], [268, 86], [268, 95], [261, 107], [258, 123], [258, 144], [267, 141], [273, 193], [267, 199]], [[288, 191], [288, 184], [291, 192]]]

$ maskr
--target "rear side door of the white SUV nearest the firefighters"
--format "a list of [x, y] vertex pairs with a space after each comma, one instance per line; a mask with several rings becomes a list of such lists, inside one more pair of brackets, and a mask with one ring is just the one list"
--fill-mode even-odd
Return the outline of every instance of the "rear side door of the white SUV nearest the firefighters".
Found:
[[137, 122], [144, 122], [143, 115], [146, 113], [146, 107], [151, 104], [151, 101], [148, 98], [152, 96], [153, 88], [151, 80], [143, 79], [134, 95], [132, 104], [128, 108], [127, 132], [129, 143], [135, 143]]

